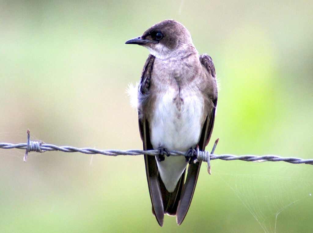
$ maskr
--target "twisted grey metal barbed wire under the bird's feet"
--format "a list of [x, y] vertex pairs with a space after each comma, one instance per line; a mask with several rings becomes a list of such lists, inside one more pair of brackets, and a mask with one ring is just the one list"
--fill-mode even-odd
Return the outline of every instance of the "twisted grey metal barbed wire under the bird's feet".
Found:
[[[284, 161], [287, 163], [292, 164], [310, 164], [313, 165], [313, 159], [300, 159], [300, 158], [294, 158], [294, 157], [280, 157], [273, 154], [267, 154], [262, 156], [256, 156], [256, 155], [233, 155], [233, 154], [221, 154], [216, 155], [213, 154], [214, 150], [216, 148], [216, 145], [218, 143], [218, 139], [216, 139], [214, 146], [212, 148], [211, 153], [208, 151], [201, 151], [199, 150], [199, 147], [193, 151], [193, 154], [197, 156], [197, 159], [194, 160], [194, 162], [197, 161], [203, 161], [208, 163], [208, 173], [210, 173], [210, 160], [243, 160], [248, 162], [265, 162], [265, 161], [271, 161], [271, 162], [278, 162], [278, 161]], [[19, 143], [19, 144], [12, 144], [12, 143], [0, 143], [1, 149], [26, 149], [25, 155], [24, 155], [24, 162], [26, 162], [28, 152], [35, 151], [35, 152], [45, 152], [45, 151], [63, 151], [63, 152], [80, 152], [83, 154], [103, 154], [103, 155], [109, 155], [109, 156], [118, 156], [118, 155], [142, 155], [142, 154], [148, 154], [148, 155], [159, 155], [159, 150], [139, 150], [139, 149], [131, 149], [131, 150], [98, 150], [94, 148], [76, 148], [73, 146], [56, 146], [53, 144], [44, 144], [42, 141], [30, 141], [30, 131], [27, 130], [27, 143]], [[170, 156], [185, 156], [186, 152], [182, 151], [169, 151]]]

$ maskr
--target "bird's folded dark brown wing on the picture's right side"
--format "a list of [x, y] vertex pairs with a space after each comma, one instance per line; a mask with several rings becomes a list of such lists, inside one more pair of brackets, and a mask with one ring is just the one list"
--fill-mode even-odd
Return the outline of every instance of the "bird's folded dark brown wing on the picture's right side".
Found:
[[[209, 73], [209, 78], [211, 79], [211, 84], [215, 85], [211, 90], [215, 93], [208, 93], [208, 97], [211, 98], [213, 103], [213, 108], [210, 112], [208, 112], [207, 118], [203, 124], [203, 129], [200, 137], [200, 141], [198, 143], [200, 150], [205, 150], [206, 145], [209, 143], [211, 138], [213, 125], [214, 125], [214, 118], [215, 118], [215, 109], [217, 104], [217, 84], [216, 84], [216, 77], [215, 77], [215, 68], [212, 62], [212, 58], [207, 54], [202, 54], [200, 56], [200, 62], [207, 69]], [[200, 171], [201, 161], [197, 163], [192, 163], [188, 166], [188, 173], [186, 177], [185, 184], [182, 189], [182, 195], [180, 202], [177, 208], [177, 216], [176, 221], [177, 224], [180, 225], [184, 220], [189, 206], [191, 204], [192, 196], [196, 188], [198, 175]]]

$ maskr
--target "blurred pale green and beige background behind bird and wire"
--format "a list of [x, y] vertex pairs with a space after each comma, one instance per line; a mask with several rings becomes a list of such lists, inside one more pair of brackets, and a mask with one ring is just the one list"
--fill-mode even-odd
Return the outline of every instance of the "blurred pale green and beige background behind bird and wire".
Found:
[[[0, 1], [0, 142], [141, 149], [126, 88], [174, 18], [215, 64], [207, 150], [313, 158], [312, 1]], [[151, 214], [142, 156], [0, 149], [1, 232], [309, 232], [313, 167], [203, 164], [181, 226]]]

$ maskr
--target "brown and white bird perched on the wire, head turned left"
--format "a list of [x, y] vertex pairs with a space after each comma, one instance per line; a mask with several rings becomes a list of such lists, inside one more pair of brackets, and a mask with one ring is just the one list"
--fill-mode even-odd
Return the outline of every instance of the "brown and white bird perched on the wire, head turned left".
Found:
[[[146, 47], [138, 87], [138, 120], [152, 212], [160, 226], [164, 214], [184, 220], [197, 184], [201, 161], [194, 149], [205, 150], [215, 117], [217, 84], [212, 59], [199, 55], [188, 30], [175, 20], [153, 25], [142, 36], [126, 41]], [[186, 151], [186, 157], [169, 151]], [[166, 157], [164, 155], [167, 155]], [[187, 164], [188, 172], [185, 180]]]

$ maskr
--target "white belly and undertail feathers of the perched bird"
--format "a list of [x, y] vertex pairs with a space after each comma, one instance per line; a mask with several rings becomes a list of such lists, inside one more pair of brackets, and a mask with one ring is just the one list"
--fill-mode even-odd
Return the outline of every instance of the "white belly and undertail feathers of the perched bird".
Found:
[[[167, 92], [156, 100], [156, 109], [150, 119], [150, 140], [154, 149], [162, 146], [168, 150], [187, 151], [194, 147], [202, 130], [203, 99], [190, 89], [181, 89], [180, 108], [174, 98], [178, 91], [167, 87]], [[183, 156], [169, 156], [157, 166], [166, 189], [174, 191], [187, 166]]]

